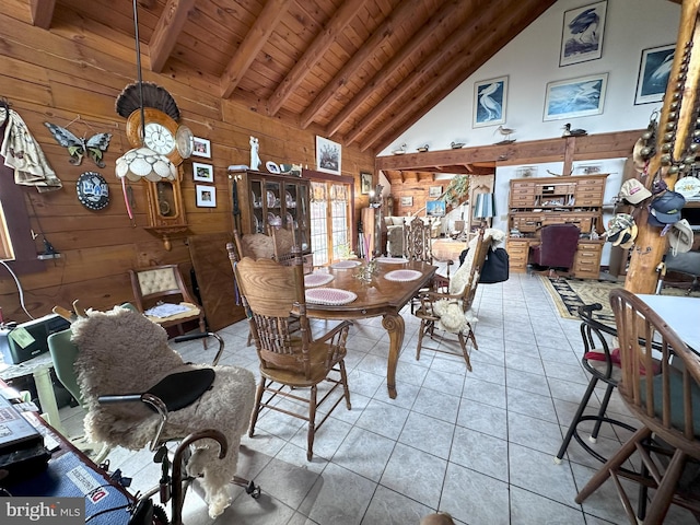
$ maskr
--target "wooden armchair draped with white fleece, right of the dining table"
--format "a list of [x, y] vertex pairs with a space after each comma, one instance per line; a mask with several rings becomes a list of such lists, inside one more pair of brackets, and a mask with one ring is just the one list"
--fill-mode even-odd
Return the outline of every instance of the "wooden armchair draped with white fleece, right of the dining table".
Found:
[[[490, 243], [483, 240], [483, 229], [469, 243], [469, 252], [464, 264], [450, 279], [447, 293], [423, 292], [420, 294], [420, 307], [413, 315], [420, 319], [418, 330], [418, 346], [416, 359], [420, 359], [420, 351], [425, 336], [434, 339], [435, 329], [456, 336], [462, 348], [462, 355], [467, 363], [467, 370], [471, 371], [471, 362], [467, 350], [467, 338], [478, 350], [477, 339], [474, 335], [471, 323], [476, 320], [470, 313], [471, 304], [479, 283], [479, 275], [483, 267]], [[441, 338], [444, 340], [444, 337]], [[452, 353], [454, 351], [440, 347], [430, 347], [429, 350]]]

